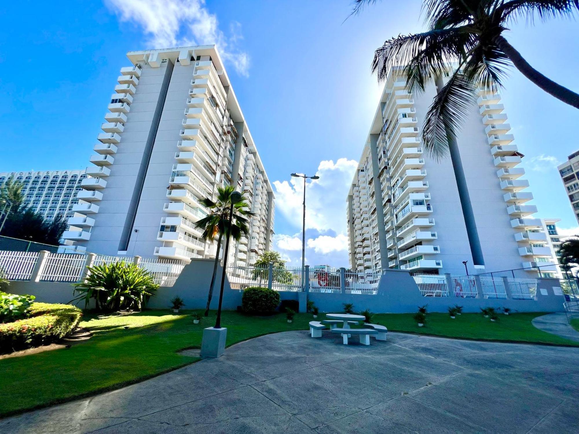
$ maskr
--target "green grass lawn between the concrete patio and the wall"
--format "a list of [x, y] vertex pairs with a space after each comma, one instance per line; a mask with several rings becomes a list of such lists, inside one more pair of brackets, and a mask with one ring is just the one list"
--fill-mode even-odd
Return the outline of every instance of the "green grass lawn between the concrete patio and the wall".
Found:
[[[70, 349], [0, 360], [0, 416], [119, 388], [197, 361], [177, 351], [199, 347], [203, 328], [213, 325], [215, 317], [212, 312], [210, 318], [195, 325], [189, 314], [167, 310], [101, 317], [86, 314], [80, 325], [94, 333], [90, 340]], [[493, 323], [479, 314], [463, 314], [457, 319], [428, 314], [424, 328], [416, 326], [412, 314], [379, 314], [374, 321], [391, 331], [578, 345], [534, 328], [531, 319], [538, 315], [501, 315], [500, 321]], [[310, 314], [296, 314], [290, 324], [283, 314], [248, 317], [226, 311], [222, 325], [228, 328], [227, 344], [232, 345], [262, 334], [305, 330], [311, 320]], [[129, 328], [124, 329], [126, 326]]]

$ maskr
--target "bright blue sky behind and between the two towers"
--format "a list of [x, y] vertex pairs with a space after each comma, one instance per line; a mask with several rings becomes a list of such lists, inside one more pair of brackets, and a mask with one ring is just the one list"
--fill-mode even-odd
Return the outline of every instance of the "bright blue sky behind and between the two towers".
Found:
[[[306, 259], [347, 265], [345, 197], [380, 92], [373, 50], [421, 30], [418, 0], [378, 2], [345, 22], [347, 0], [20, 1], [3, 9], [0, 171], [86, 167], [127, 51], [217, 42], [274, 182], [276, 248], [299, 263], [303, 190], [289, 174], [318, 172], [307, 197]], [[34, 25], [17, 19], [31, 12]], [[519, 23], [507, 38], [534, 67], [578, 91], [577, 30], [571, 20]], [[555, 166], [579, 148], [577, 111], [515, 70], [505, 84], [538, 216], [574, 228]]]

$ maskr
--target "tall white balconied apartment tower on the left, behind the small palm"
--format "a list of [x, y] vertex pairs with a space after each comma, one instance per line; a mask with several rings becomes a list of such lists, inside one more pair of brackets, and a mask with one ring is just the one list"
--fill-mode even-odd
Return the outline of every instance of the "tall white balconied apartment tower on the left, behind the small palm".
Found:
[[127, 53], [64, 238], [79, 251], [184, 259], [215, 255], [195, 222], [217, 187], [255, 216], [230, 247], [246, 266], [269, 249], [272, 186], [215, 46]]

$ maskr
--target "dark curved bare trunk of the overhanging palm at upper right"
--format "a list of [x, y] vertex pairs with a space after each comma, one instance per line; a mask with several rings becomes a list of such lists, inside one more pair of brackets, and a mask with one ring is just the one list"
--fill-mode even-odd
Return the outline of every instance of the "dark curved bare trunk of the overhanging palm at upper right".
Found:
[[543, 89], [548, 94], [553, 95], [560, 101], [566, 104], [572, 105], [574, 108], [579, 108], [579, 94], [567, 89], [560, 84], [555, 83], [553, 80], [545, 77], [542, 73], [534, 69], [529, 62], [527, 62], [521, 53], [519, 53], [515, 47], [508, 43], [507, 39], [503, 36], [496, 36], [494, 42], [499, 46], [503, 53], [507, 54], [508, 58], [513, 62], [516, 69], [521, 71], [521, 73], [535, 83], [538, 87]]

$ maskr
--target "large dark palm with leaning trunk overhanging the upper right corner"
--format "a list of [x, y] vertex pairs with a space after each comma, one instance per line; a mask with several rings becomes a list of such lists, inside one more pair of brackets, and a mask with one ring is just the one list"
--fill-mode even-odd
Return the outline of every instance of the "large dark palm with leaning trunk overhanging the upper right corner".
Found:
[[[355, 1], [353, 13], [376, 2]], [[477, 87], [498, 90], [510, 65], [555, 98], [579, 108], [579, 94], [534, 69], [503, 36], [517, 19], [532, 22], [534, 14], [541, 20], [571, 17], [577, 10], [579, 0], [424, 0], [427, 31], [384, 42], [375, 52], [372, 72], [384, 80], [392, 68], [405, 65], [408, 89], [420, 92], [448, 71], [449, 62], [457, 62], [434, 98], [422, 131], [424, 148], [440, 159], [449, 153], [449, 141], [468, 115]]]

